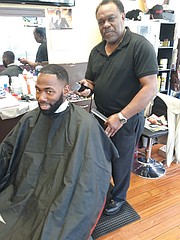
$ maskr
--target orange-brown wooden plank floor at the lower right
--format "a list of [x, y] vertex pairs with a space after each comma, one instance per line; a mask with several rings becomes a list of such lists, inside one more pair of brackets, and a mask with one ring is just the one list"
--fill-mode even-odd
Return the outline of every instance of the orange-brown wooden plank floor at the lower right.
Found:
[[[159, 144], [153, 146], [153, 157]], [[166, 174], [145, 179], [132, 173], [127, 201], [141, 219], [98, 240], [177, 240], [180, 239], [180, 164], [172, 163]]]

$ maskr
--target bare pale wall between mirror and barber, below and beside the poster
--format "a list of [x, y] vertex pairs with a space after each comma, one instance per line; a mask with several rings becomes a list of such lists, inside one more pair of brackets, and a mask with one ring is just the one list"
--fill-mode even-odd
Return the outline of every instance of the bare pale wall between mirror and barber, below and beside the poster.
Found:
[[98, 3], [98, 0], [76, 0], [76, 6], [72, 7], [72, 29], [47, 31], [49, 62], [88, 61], [90, 50], [101, 41], [95, 18]]

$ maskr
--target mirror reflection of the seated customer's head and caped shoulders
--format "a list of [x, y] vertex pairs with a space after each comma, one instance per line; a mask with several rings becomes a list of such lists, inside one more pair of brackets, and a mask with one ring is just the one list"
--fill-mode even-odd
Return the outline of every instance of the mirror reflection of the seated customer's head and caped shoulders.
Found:
[[2, 62], [5, 69], [0, 72], [0, 76], [7, 75], [11, 81], [11, 77], [22, 74], [23, 69], [14, 63], [15, 55], [11, 51], [6, 51], [2, 55]]

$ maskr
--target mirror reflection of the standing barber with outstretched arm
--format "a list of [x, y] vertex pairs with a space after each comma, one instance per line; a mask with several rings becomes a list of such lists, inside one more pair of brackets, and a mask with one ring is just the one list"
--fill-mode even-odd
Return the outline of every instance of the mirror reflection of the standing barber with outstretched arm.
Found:
[[26, 58], [21, 58], [19, 61], [23, 64], [29, 64], [32, 68], [35, 68], [38, 65], [43, 65], [43, 62], [48, 63], [46, 29], [43, 27], [36, 27], [33, 31], [33, 34], [36, 42], [40, 43], [36, 53], [35, 62], [29, 61]]

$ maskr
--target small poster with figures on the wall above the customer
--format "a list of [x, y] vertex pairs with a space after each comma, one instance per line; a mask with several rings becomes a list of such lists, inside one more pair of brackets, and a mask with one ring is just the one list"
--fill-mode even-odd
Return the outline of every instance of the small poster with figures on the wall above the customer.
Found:
[[49, 30], [72, 28], [72, 8], [48, 9]]

